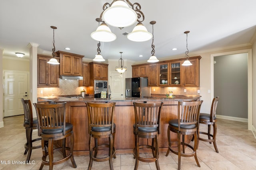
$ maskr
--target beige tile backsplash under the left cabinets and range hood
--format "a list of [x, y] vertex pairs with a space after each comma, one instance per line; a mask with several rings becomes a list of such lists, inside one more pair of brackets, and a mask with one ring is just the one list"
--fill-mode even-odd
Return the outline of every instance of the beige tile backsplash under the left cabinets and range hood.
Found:
[[81, 90], [86, 89], [84, 86], [78, 86], [78, 80], [60, 79], [60, 87], [37, 88], [37, 96], [61, 96], [71, 94], [81, 94]]

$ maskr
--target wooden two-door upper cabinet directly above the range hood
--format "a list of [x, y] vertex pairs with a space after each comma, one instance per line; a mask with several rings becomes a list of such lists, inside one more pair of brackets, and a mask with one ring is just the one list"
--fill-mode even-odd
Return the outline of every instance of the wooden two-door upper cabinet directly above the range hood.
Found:
[[60, 75], [82, 76], [83, 55], [57, 51], [60, 57]]

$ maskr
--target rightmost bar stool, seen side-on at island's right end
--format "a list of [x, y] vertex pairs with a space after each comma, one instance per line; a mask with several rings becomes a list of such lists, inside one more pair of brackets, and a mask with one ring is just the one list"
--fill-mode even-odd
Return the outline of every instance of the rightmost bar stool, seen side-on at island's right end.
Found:
[[[198, 128], [198, 134], [204, 134], [204, 135], [208, 136], [208, 139], [204, 139], [204, 138], [199, 137], [200, 135], [198, 135], [199, 140], [213, 143], [214, 149], [217, 153], [219, 152], [217, 145], [216, 145], [216, 134], [217, 134], [216, 108], [217, 108], [218, 101], [219, 101], [218, 96], [216, 98], [213, 98], [212, 106], [211, 106], [211, 113], [210, 114], [200, 113], [200, 116], [199, 116], [199, 123], [208, 125], [208, 132], [202, 132], [202, 131], [199, 132], [199, 128]], [[211, 134], [211, 125], [213, 126], [213, 134]], [[211, 137], [212, 137], [212, 139], [211, 139]]]

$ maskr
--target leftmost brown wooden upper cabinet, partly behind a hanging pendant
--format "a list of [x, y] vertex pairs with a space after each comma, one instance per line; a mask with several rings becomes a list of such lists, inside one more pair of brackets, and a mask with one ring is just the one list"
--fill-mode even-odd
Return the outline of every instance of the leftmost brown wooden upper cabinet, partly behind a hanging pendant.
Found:
[[[37, 55], [37, 87], [59, 86], [59, 64], [48, 64], [51, 56]], [[59, 61], [58, 57], [55, 57]]]

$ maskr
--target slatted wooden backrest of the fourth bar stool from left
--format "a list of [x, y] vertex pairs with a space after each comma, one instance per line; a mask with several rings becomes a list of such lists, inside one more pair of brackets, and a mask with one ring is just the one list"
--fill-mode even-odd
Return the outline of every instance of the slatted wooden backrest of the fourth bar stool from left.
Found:
[[158, 133], [160, 133], [159, 122], [163, 104], [163, 102], [133, 102], [136, 131], [138, 131], [138, 127], [157, 127]]

